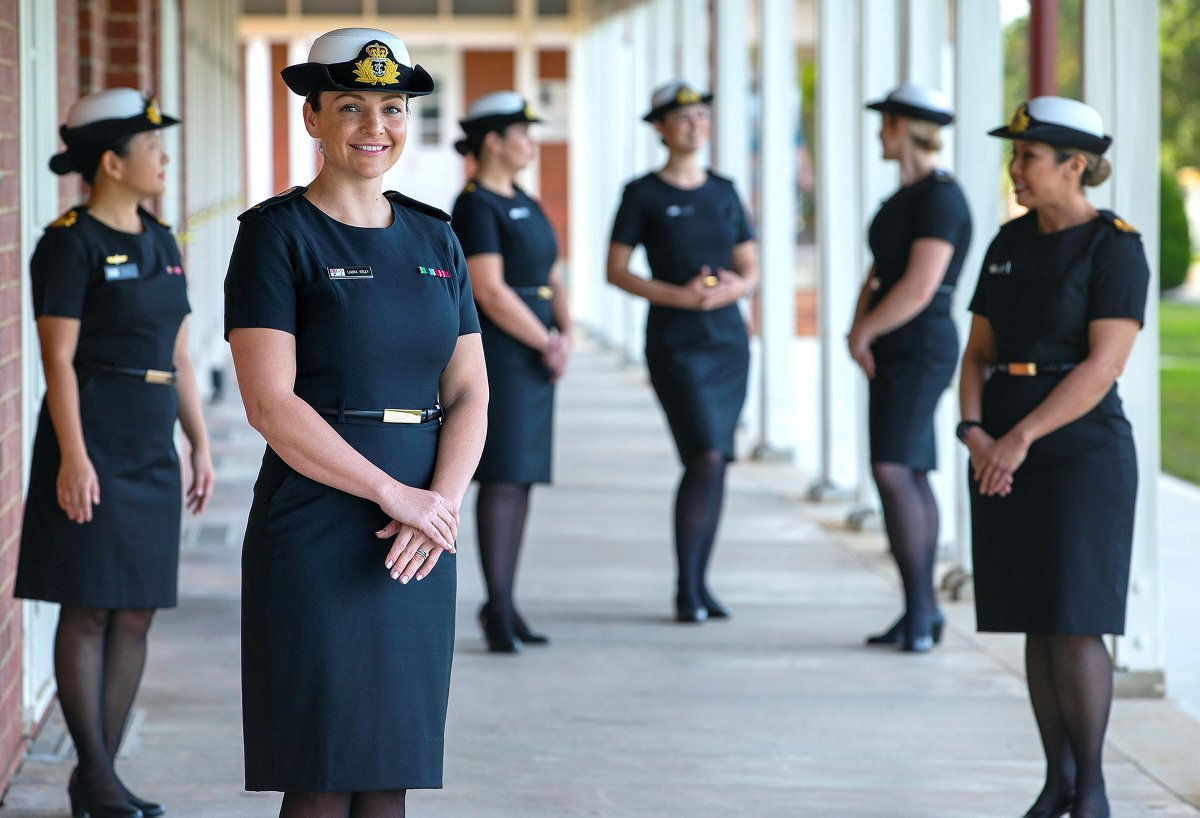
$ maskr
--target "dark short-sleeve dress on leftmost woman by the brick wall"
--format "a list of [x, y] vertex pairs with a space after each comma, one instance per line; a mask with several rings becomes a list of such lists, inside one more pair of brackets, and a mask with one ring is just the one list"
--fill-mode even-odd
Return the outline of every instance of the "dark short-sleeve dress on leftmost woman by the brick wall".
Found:
[[61, 455], [46, 401], [34, 439], [14, 594], [85, 608], [170, 608], [179, 573], [179, 397], [132, 372], [174, 372], [190, 312], [179, 246], [139, 211], [142, 233], [88, 207], [47, 228], [30, 261], [34, 314], [79, 320], [74, 368], [88, 457], [100, 480], [90, 523], [67, 519]]

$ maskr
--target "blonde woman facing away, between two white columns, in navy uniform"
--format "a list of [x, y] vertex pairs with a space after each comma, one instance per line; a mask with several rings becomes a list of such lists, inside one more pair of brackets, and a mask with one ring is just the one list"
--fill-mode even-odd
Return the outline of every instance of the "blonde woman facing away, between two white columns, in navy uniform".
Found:
[[906, 83], [868, 108], [883, 113], [880, 144], [883, 158], [900, 166], [900, 190], [871, 222], [874, 263], [847, 344], [870, 380], [871, 474], [905, 613], [866, 642], [925, 652], [944, 622], [934, 593], [938, 515], [928, 477], [937, 467], [934, 410], [959, 362], [950, 301], [971, 212], [954, 176], [937, 167], [941, 128], [954, 119], [946, 97]]

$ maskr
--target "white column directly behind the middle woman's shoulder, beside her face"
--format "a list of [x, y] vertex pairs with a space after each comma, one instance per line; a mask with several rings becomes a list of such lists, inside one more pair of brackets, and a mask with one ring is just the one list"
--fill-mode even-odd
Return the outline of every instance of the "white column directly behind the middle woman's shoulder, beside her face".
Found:
[[716, 170], [750, 193], [749, 94], [750, 49], [746, 47], [744, 0], [713, 2], [713, 136]]

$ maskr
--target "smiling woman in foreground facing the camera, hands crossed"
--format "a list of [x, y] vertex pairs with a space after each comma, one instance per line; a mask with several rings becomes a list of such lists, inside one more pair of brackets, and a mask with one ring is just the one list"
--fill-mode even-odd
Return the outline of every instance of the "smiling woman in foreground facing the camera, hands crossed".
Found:
[[246, 788], [283, 790], [283, 816], [403, 816], [407, 789], [442, 786], [487, 377], [450, 217], [383, 191], [433, 80], [374, 29], [308, 58], [282, 76], [324, 162], [241, 216], [226, 278], [268, 444], [242, 548]]

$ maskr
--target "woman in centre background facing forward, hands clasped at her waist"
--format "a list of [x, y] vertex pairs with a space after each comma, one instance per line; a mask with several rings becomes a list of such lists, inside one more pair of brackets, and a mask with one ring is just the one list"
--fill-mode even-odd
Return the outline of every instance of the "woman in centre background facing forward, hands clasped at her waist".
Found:
[[[608, 283], [650, 302], [646, 362], [684, 467], [674, 506], [682, 622], [730, 615], [706, 572], [750, 367], [738, 299], [758, 281], [754, 231], [733, 182], [700, 164], [712, 100], [684, 83], [654, 91], [644, 120], [667, 162], [625, 187], [608, 246]], [[629, 269], [637, 245], [646, 246], [650, 278]]]

